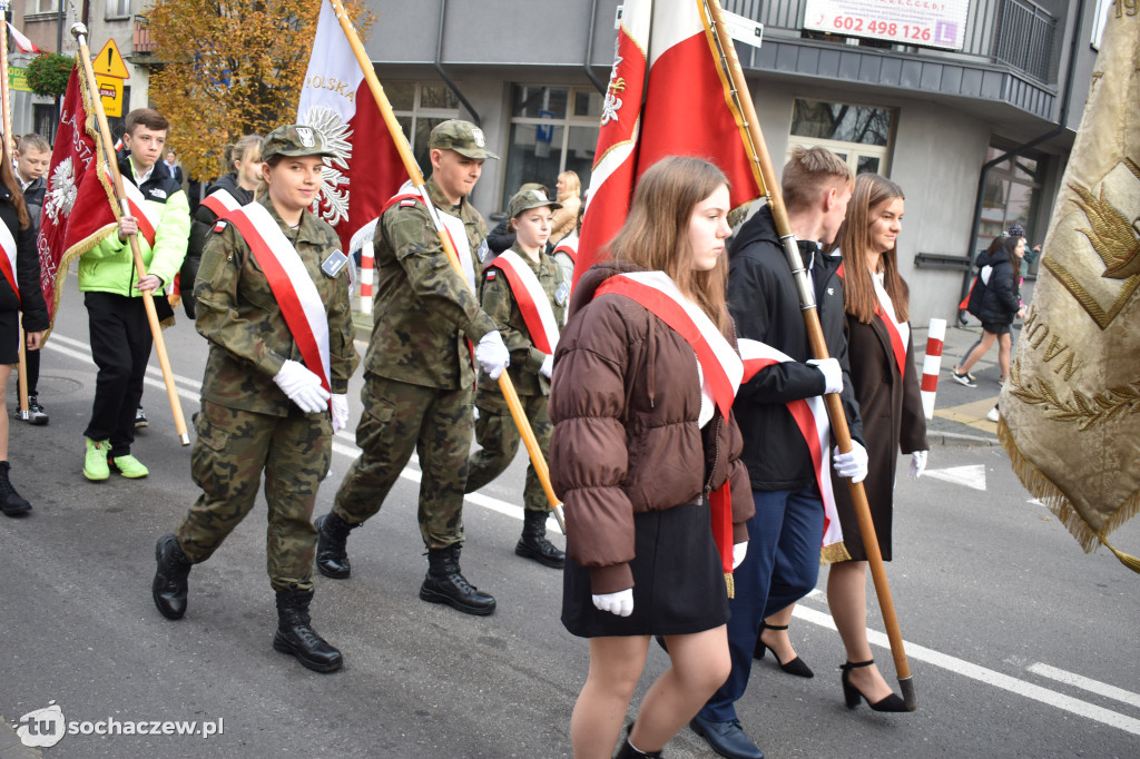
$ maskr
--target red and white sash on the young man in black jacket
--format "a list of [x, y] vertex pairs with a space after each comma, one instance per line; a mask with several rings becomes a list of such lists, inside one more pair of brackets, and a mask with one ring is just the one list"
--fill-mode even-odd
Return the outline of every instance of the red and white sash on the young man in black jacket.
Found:
[[[738, 344], [740, 356], [744, 359], [743, 382], [755, 377], [760, 369], [795, 360], [757, 340], [740, 340]], [[826, 548], [844, 540], [839, 513], [836, 511], [836, 493], [831, 489], [831, 422], [828, 419], [828, 407], [822, 395], [788, 401], [785, 406], [812, 454], [815, 481], [823, 500], [823, 547]]]

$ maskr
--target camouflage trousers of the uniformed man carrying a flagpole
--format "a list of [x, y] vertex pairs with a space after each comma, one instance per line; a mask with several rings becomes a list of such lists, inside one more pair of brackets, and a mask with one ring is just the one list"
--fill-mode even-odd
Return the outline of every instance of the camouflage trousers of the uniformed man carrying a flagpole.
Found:
[[462, 542], [473, 400], [467, 387], [441, 390], [365, 375], [357, 427], [361, 452], [336, 491], [336, 515], [359, 524], [378, 512], [414, 450], [422, 472], [417, 517], [424, 545]]

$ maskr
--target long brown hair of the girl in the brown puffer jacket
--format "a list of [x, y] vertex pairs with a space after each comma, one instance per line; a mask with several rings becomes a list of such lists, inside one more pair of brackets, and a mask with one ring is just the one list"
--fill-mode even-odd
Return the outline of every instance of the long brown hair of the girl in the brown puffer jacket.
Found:
[[701, 158], [669, 156], [642, 174], [626, 223], [610, 243], [614, 261], [629, 261], [669, 275], [722, 334], [731, 333], [724, 303], [726, 256], [709, 271], [694, 271], [689, 251], [689, 225], [697, 204], [727, 187], [717, 166]]

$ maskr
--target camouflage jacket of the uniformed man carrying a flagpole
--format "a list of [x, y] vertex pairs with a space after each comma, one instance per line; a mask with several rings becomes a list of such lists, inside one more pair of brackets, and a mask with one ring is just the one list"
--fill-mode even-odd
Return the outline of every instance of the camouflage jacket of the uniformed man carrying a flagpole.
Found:
[[[433, 180], [427, 193], [439, 213], [463, 220], [479, 270], [487, 225], [463, 198], [458, 207]], [[365, 369], [424, 387], [472, 387], [467, 340], [478, 343], [495, 329], [479, 308], [466, 277], [451, 268], [422, 201], [397, 203], [376, 225], [376, 295]]]

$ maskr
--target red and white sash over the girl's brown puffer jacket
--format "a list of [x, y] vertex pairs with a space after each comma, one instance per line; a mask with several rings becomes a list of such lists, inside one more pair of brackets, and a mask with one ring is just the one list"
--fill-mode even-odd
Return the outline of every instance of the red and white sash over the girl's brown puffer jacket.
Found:
[[[701, 366], [701, 393], [716, 403], [727, 419], [744, 374], [744, 365], [700, 307], [682, 295], [677, 285], [663, 271], [637, 271], [610, 277], [597, 288], [594, 297], [611, 293], [640, 303], [689, 343]], [[712, 538], [720, 554], [728, 596], [732, 597], [732, 487], [728, 481], [709, 495], [709, 506]]]

